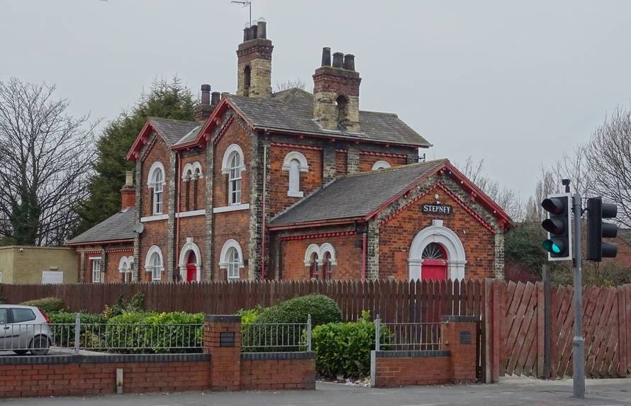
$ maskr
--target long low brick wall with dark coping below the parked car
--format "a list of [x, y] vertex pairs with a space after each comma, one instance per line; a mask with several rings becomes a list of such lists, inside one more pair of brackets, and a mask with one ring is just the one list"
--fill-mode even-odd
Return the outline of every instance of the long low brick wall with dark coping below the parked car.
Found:
[[206, 354], [0, 357], [0, 397], [203, 390], [210, 382]]

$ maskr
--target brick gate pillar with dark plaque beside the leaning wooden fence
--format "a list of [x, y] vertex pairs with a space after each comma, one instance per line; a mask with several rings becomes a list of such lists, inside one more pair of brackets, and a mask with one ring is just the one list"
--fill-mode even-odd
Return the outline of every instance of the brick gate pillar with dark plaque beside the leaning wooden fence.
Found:
[[476, 382], [476, 328], [475, 316], [443, 316], [440, 327], [442, 342], [451, 352], [454, 383]]

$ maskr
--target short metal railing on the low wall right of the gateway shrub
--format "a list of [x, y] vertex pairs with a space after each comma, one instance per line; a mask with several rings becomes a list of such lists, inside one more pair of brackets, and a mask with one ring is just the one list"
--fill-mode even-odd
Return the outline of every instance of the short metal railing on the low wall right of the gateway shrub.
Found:
[[441, 347], [441, 323], [382, 323], [375, 320], [376, 351], [427, 351]]

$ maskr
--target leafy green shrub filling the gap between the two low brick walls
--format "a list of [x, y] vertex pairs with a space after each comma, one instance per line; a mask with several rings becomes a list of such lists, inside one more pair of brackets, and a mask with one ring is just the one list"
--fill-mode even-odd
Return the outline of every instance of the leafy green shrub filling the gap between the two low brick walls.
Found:
[[[391, 332], [381, 327], [382, 342]], [[329, 323], [313, 329], [315, 371], [335, 377], [362, 377], [370, 373], [370, 351], [374, 349], [374, 322], [362, 312], [357, 322]]]

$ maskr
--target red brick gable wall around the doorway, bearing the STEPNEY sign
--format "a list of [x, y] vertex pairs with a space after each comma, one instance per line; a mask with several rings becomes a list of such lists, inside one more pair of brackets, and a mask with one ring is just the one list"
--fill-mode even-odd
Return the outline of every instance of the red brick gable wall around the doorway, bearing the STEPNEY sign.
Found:
[[[453, 207], [451, 215], [423, 213], [422, 205], [435, 203], [434, 195], [440, 196], [440, 202]], [[394, 276], [397, 279], [408, 278], [408, 256], [412, 240], [420, 230], [432, 225], [433, 219], [443, 220], [443, 225], [454, 231], [467, 256], [464, 278], [493, 278], [495, 273], [495, 237], [473, 215], [467, 213], [445, 191], [433, 186], [428, 191], [393, 217], [379, 226], [379, 278]]]

